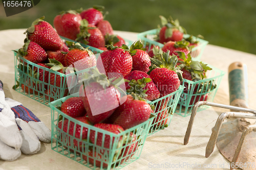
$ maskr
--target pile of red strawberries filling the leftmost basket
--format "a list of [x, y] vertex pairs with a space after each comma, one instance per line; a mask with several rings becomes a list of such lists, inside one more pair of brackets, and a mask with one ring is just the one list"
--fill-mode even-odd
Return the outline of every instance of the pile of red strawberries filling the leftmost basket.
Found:
[[[27, 38], [25, 44], [18, 51], [18, 56], [24, 57], [26, 60], [35, 64], [34, 67], [27, 62], [22, 62], [20, 58], [19, 67], [29, 67], [26, 72], [31, 78], [20, 82], [22, 89], [30, 94], [46, 95], [46, 99], [53, 101], [68, 94], [68, 87], [64, 81], [64, 76], [59, 76], [54, 71], [68, 75], [71, 71], [67, 68], [73, 68], [75, 64], [76, 70], [83, 70], [96, 65], [96, 57], [87, 48], [83, 48], [79, 43], [65, 42], [59, 37], [57, 32], [44, 17], [36, 19], [30, 28], [27, 29]], [[53, 72], [47, 69], [41, 69], [38, 66], [51, 68]], [[64, 86], [66, 84], [66, 86]], [[64, 94], [60, 95], [60, 88], [66, 88]]]

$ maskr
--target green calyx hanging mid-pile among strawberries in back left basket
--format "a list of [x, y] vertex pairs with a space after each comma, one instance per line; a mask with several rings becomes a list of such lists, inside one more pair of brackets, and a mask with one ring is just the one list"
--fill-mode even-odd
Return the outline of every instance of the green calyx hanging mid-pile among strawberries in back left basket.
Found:
[[76, 41], [82, 42], [84, 44], [88, 44], [89, 41], [86, 40], [86, 38], [89, 38], [91, 34], [88, 32], [89, 29], [96, 29], [96, 27], [88, 27], [89, 22], [86, 19], [82, 19], [80, 21], [80, 33], [77, 34]]

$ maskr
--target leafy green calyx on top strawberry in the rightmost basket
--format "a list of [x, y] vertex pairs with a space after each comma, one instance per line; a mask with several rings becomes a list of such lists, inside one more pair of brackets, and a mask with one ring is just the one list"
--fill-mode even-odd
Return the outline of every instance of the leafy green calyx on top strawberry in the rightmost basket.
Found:
[[178, 61], [181, 63], [179, 66], [181, 69], [186, 69], [190, 72], [192, 81], [202, 80], [206, 77], [205, 72], [211, 70], [207, 64], [199, 61], [192, 61], [190, 53], [188, 53], [187, 58], [183, 52], [177, 52], [180, 59], [183, 61]]

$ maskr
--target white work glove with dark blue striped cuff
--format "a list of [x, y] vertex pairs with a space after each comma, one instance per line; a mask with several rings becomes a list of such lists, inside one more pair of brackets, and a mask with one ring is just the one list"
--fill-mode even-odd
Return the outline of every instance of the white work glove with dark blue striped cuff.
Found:
[[21, 103], [9, 98], [5, 99], [1, 85], [0, 128], [0, 159], [3, 160], [13, 161], [20, 156], [21, 152], [37, 153], [41, 145], [39, 140], [51, 142], [51, 131], [45, 124]]

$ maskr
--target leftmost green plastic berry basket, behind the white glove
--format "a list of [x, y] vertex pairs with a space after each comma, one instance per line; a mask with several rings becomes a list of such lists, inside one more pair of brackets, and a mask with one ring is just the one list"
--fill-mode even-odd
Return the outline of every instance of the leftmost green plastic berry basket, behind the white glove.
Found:
[[[96, 56], [96, 55], [95, 55]], [[63, 98], [68, 94], [76, 93], [79, 90], [77, 85], [77, 77], [88, 69], [71, 72], [70, 74], [62, 74], [49, 68], [40, 66], [31, 61], [26, 60], [22, 56], [14, 52], [14, 70], [15, 70], [15, 90], [29, 98], [38, 101], [48, 107], [49, 102]], [[35, 71], [32, 71], [35, 70]], [[42, 71], [41, 74], [46, 79], [42, 81], [36, 72]], [[54, 83], [50, 84], [50, 78]], [[56, 78], [60, 79], [59, 86], [56, 86]], [[48, 80], [48, 81], [46, 81]]]

